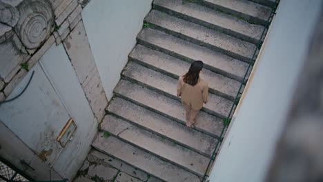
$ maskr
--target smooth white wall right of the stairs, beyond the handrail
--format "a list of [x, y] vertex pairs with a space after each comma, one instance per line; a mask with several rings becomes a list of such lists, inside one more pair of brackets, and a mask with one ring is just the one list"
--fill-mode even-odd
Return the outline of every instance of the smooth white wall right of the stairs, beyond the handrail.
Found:
[[210, 181], [264, 181], [322, 3], [280, 2]]

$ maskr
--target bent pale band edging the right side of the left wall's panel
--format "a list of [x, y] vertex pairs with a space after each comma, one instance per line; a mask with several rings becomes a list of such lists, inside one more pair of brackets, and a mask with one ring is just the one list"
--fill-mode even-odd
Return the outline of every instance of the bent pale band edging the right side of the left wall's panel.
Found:
[[[52, 45], [40, 62], [61, 100], [66, 104], [70, 117], [77, 124], [72, 141], [69, 141], [53, 165], [61, 176], [72, 179], [90, 151], [90, 144], [97, 133], [97, 119], [86, 100], [63, 45]], [[60, 131], [61, 128], [57, 130]]]

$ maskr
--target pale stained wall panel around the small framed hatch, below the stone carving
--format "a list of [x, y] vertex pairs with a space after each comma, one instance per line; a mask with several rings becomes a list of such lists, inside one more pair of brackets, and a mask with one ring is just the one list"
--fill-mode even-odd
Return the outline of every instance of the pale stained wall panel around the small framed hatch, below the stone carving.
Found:
[[[26, 92], [0, 105], [0, 121], [36, 154], [52, 149], [46, 163], [63, 178], [72, 179], [90, 150], [97, 120], [62, 44], [51, 45], [31, 70], [35, 70], [35, 75]], [[21, 92], [30, 74], [8, 99]], [[56, 138], [70, 117], [77, 130], [66, 147], [61, 148]]]

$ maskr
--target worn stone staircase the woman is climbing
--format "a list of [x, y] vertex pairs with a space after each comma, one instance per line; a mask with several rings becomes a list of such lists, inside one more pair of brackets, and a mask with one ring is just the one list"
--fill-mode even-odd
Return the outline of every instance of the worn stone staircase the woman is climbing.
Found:
[[[153, 1], [92, 147], [160, 181], [201, 181], [273, 5]], [[193, 130], [176, 84], [195, 60], [209, 101]]]

